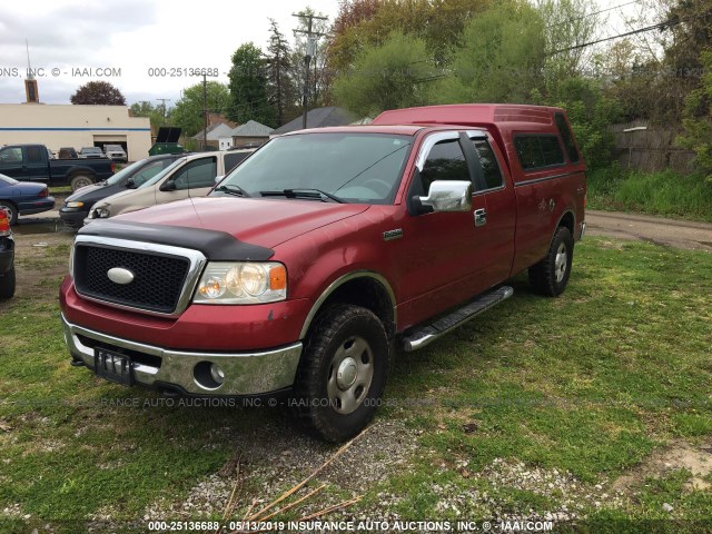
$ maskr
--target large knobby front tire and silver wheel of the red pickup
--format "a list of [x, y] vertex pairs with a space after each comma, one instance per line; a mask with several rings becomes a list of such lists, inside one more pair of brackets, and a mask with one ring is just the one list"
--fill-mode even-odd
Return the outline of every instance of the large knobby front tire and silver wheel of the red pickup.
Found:
[[307, 432], [338, 443], [364, 429], [380, 403], [388, 357], [386, 330], [370, 310], [335, 305], [319, 313], [291, 399]]

